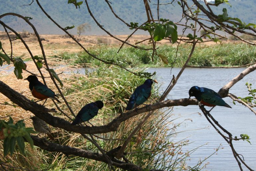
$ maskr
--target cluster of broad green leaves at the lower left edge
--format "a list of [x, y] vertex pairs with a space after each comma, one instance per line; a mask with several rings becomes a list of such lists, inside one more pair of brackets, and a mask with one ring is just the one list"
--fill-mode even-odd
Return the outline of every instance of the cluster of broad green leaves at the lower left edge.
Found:
[[21, 154], [25, 155], [25, 142], [24, 138], [30, 143], [31, 148], [34, 147], [30, 133], [36, 133], [33, 128], [26, 128], [23, 123], [24, 120], [18, 121], [16, 124], [13, 124], [13, 119], [9, 117], [9, 121], [0, 120], [0, 132], [3, 132], [4, 135], [4, 156], [9, 152], [10, 155], [13, 154], [16, 146], [16, 142], [19, 147]]

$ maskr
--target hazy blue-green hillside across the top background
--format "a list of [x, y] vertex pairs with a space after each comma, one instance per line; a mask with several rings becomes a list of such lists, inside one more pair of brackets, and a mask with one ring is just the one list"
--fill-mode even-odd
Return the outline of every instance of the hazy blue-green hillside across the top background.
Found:
[[[45, 14], [41, 11], [36, 2], [30, 4], [32, 0], [0, 0], [0, 14], [14, 12], [23, 16], [32, 17], [30, 20], [35, 25], [40, 34], [64, 34], [59, 28], [54, 26]], [[146, 21], [145, 6], [139, 0], [111, 0], [113, 10], [127, 23], [138, 22], [139, 24]], [[161, 0], [161, 3], [168, 3], [170, 0]], [[189, 2], [189, 1], [188, 1]], [[212, 7], [214, 12], [222, 14], [222, 8], [227, 8], [230, 17], [238, 17], [245, 23], [256, 23], [255, 0], [236, 0], [229, 1], [232, 7], [223, 4], [219, 7]], [[93, 19], [90, 17], [86, 4], [83, 2], [80, 9], [76, 9], [73, 4], [67, 4], [67, 0], [41, 0], [41, 5], [45, 11], [62, 27], [79, 26], [82, 23], [89, 23], [92, 30], [87, 34], [102, 35], [104, 32], [98, 28]], [[132, 31], [119, 21], [110, 11], [104, 0], [89, 0], [89, 7], [94, 17], [104, 28], [112, 34], [130, 34]], [[151, 0], [151, 8], [153, 15], [157, 18], [157, 0]], [[181, 8], [176, 3], [175, 7], [171, 4], [160, 6], [160, 17], [167, 18], [174, 22], [179, 21], [181, 16]], [[8, 16], [1, 19], [7, 25], [13, 27], [17, 31], [32, 31], [32, 29], [18, 17]], [[3, 30], [1, 28], [1, 30]], [[72, 34], [76, 34], [76, 28], [69, 30]], [[141, 31], [138, 34], [146, 34]]]

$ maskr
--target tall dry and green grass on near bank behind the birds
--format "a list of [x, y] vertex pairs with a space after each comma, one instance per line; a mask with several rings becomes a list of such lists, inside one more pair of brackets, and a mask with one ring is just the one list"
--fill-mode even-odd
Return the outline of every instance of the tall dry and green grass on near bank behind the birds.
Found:
[[[33, 62], [28, 62], [27, 67], [34, 68]], [[103, 65], [97, 67], [97, 69], [93, 69], [91, 65], [90, 68], [92, 68], [90, 72], [86, 71], [85, 74], [79, 74], [76, 70], [73, 71], [73, 73], [60, 74], [59, 76], [64, 83], [62, 91], [75, 114], [83, 105], [92, 101], [102, 100], [104, 102], [103, 110], [99, 111], [99, 114], [90, 120], [90, 123], [94, 126], [106, 125], [123, 112], [130, 94], [138, 85], [141, 85], [145, 79], [140, 79], [129, 72], [123, 72], [116, 66], [106, 67], [106, 65]], [[61, 72], [67, 69], [70, 68], [66, 66], [56, 71]], [[138, 72], [142, 70], [133, 69], [133, 71]], [[19, 84], [16, 84], [14, 77], [13, 74], [7, 74], [1, 76], [1, 80], [9, 80], [9, 85], [12, 88], [23, 91], [23, 95], [34, 99], [31, 97], [28, 89], [28, 83], [25, 80], [21, 80]], [[12, 82], [10, 80], [15, 81]], [[49, 87], [54, 87], [51, 81], [47, 81], [47, 83]], [[8, 99], [3, 95], [1, 95], [1, 99], [8, 102]], [[157, 99], [158, 87], [155, 85], [152, 90], [152, 96], [147, 104], [155, 103]], [[62, 108], [64, 113], [70, 118], [73, 118], [68, 109], [65, 108], [63, 101], [58, 105]], [[50, 100], [46, 102], [45, 106], [54, 108], [54, 104]], [[24, 118], [26, 126], [33, 127], [31, 120], [28, 119], [31, 113], [28, 111], [22, 112], [22, 109], [19, 107], [2, 106], [2, 115], [11, 115], [13, 118]], [[66, 118], [61, 112], [55, 113], [55, 116]], [[127, 122], [123, 122], [117, 131], [97, 134], [94, 138], [104, 150], [109, 151], [121, 145], [123, 140], [127, 138], [127, 135], [133, 131], [134, 127], [139, 124], [143, 117], [143, 115], [133, 117]], [[186, 139], [175, 141], [174, 135], [179, 124], [176, 123], [176, 125], [174, 125], [174, 120], [175, 118], [171, 110], [156, 110], [154, 115], [147, 120], [139, 130], [139, 133], [135, 135], [128, 144], [127, 149], [129, 149], [130, 152], [127, 153], [125, 157], [134, 164], [146, 169], [184, 170], [189, 168], [202, 168], [204, 164], [201, 163], [190, 167], [186, 165], [186, 160], [190, 152], [183, 152], [182, 146], [189, 142]], [[56, 143], [92, 152], [99, 152], [97, 147], [84, 139], [79, 133], [68, 132], [53, 127], [51, 127], [51, 129]], [[41, 136], [43, 137], [44, 135], [41, 134], [40, 137]], [[2, 144], [0, 144], [0, 149], [3, 149]], [[193, 151], [194, 150], [195, 149], [193, 149]], [[49, 152], [40, 148], [35, 148], [34, 150], [25, 148], [25, 153], [27, 157], [20, 154], [18, 146], [16, 146], [13, 156], [1, 156], [0, 161], [4, 161], [9, 166], [27, 169], [107, 170], [106, 163], [73, 155], [67, 156], [59, 152]]]

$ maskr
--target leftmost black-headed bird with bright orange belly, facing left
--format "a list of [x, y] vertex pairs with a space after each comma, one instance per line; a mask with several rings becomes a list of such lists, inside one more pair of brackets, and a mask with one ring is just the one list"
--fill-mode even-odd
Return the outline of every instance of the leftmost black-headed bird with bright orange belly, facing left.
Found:
[[56, 96], [55, 93], [51, 89], [49, 89], [46, 85], [38, 81], [38, 78], [35, 75], [30, 75], [28, 76], [28, 78], [25, 78], [24, 80], [29, 81], [29, 89], [35, 98], [38, 98], [40, 100], [45, 100], [45, 99], [47, 100], [48, 98], [50, 98], [52, 100], [56, 100], [57, 102], [61, 103], [56, 98], [58, 96]]

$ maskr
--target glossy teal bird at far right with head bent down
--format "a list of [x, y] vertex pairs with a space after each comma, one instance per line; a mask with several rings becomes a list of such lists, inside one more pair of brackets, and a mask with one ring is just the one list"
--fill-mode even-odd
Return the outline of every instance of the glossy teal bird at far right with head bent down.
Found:
[[[208, 88], [193, 86], [189, 90], [189, 98], [191, 96], [194, 96], [202, 105], [212, 107], [211, 110], [215, 106], [231, 108], [224, 100], [222, 100], [222, 97], [218, 93]], [[209, 112], [211, 110], [209, 110]]]

